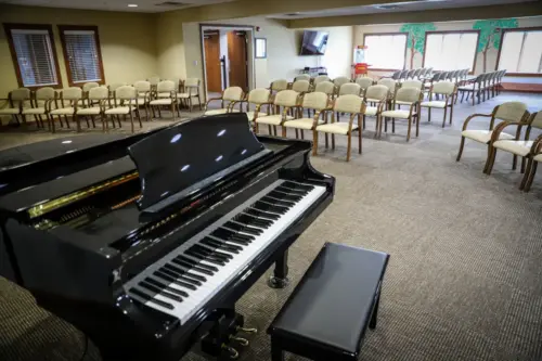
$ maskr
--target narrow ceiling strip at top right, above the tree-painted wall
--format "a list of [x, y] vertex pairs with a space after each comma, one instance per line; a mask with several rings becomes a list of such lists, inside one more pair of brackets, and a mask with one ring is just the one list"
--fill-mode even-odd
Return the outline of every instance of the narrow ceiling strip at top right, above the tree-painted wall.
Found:
[[325, 16], [346, 16], [360, 14], [378, 14], [390, 12], [424, 11], [435, 9], [468, 8], [483, 5], [501, 5], [538, 0], [421, 0], [421, 1], [398, 1], [386, 5], [363, 5], [352, 8], [328, 9], [322, 11], [274, 14], [268, 15], [272, 18], [307, 18]]

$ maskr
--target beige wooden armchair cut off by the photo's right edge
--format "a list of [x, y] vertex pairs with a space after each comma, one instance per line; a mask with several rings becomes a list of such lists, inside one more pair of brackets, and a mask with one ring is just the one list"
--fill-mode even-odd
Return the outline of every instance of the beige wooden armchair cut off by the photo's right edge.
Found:
[[[527, 126], [525, 138], [520, 140], [521, 128]], [[500, 139], [500, 133], [508, 127], [516, 127], [516, 137], [514, 140]], [[527, 121], [503, 121], [495, 127], [489, 142], [488, 159], [486, 162], [486, 173], [491, 175], [495, 163], [496, 151], [501, 150], [514, 154], [512, 169], [517, 166], [517, 156], [521, 157], [521, 172], [525, 172], [525, 163], [530, 159], [537, 151], [533, 149], [534, 141], [530, 140], [532, 128], [542, 129], [542, 112], [531, 114]]]

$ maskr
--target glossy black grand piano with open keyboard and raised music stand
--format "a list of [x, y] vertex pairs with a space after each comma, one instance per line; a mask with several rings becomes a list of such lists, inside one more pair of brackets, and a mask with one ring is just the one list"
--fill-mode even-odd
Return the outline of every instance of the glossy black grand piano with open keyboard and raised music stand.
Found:
[[[128, 154], [0, 196], [20, 283], [104, 360], [231, 357], [236, 300], [332, 202], [310, 142], [256, 137], [244, 114], [142, 136]], [[1, 175], [1, 173], [0, 173]]]

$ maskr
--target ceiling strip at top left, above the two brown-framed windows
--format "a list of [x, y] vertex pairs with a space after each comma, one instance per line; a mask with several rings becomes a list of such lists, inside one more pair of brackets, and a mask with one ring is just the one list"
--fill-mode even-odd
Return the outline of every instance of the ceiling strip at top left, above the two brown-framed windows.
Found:
[[[0, 0], [0, 3], [29, 7], [159, 13], [231, 1], [234, 0]], [[128, 4], [137, 4], [138, 7], [128, 8]]]

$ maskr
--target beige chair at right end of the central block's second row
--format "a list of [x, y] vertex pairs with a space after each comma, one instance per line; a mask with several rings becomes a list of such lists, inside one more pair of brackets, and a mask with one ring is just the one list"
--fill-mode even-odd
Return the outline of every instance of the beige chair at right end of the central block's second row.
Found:
[[[410, 141], [410, 133], [412, 128], [412, 121], [416, 121], [416, 137], [420, 134], [420, 112], [418, 106], [422, 101], [422, 96], [424, 93], [416, 88], [400, 88], [396, 92], [396, 96], [393, 99], [392, 109], [382, 112], [382, 116], [384, 117], [385, 123], [385, 131], [388, 129], [388, 118], [391, 118], [391, 132], [396, 132], [396, 119], [406, 119], [409, 121], [409, 129], [406, 132], [406, 141]], [[401, 102], [400, 104], [408, 104], [409, 109], [395, 109], [396, 103]], [[382, 121], [380, 128], [378, 130], [382, 133]]]

